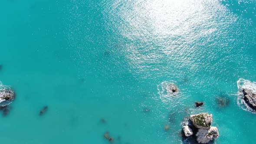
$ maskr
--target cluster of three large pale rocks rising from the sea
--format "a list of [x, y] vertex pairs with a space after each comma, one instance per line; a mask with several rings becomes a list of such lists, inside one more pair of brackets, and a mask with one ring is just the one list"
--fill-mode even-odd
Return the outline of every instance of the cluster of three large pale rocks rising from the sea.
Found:
[[212, 115], [208, 113], [190, 115], [192, 124], [183, 126], [184, 134], [186, 137], [194, 135], [198, 143], [207, 144], [220, 135], [218, 129], [211, 126], [212, 122]]

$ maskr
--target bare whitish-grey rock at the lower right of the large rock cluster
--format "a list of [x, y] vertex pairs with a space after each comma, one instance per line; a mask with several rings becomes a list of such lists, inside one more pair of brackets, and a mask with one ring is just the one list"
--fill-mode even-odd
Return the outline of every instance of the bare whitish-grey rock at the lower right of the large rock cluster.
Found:
[[210, 127], [210, 129], [198, 129], [196, 134], [197, 142], [202, 144], [207, 144], [208, 142], [212, 141], [219, 137], [219, 131], [216, 127]]

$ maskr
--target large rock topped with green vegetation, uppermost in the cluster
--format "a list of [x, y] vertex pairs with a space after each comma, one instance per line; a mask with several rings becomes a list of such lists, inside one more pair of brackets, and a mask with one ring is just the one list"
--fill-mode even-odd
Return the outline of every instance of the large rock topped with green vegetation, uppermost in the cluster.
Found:
[[192, 121], [193, 125], [196, 128], [204, 128], [204, 129], [209, 129], [213, 122], [212, 115], [209, 115], [208, 113], [191, 115], [190, 120]]

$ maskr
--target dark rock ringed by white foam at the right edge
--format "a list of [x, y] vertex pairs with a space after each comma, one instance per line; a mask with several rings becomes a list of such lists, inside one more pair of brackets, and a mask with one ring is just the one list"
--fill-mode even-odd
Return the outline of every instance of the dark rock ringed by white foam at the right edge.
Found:
[[252, 89], [247, 88], [244, 88], [242, 92], [243, 99], [246, 102], [246, 104], [253, 110], [256, 110], [256, 93], [254, 93]]

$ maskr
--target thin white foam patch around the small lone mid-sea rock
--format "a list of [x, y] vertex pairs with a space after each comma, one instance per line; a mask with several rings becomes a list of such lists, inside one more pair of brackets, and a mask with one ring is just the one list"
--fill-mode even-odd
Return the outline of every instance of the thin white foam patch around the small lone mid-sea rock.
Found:
[[178, 97], [179, 89], [178, 92], [170, 92], [170, 90], [168, 90], [170, 85], [175, 85], [175, 83], [164, 81], [158, 85], [158, 94], [160, 95], [160, 99], [164, 102], [171, 101], [173, 98]]

